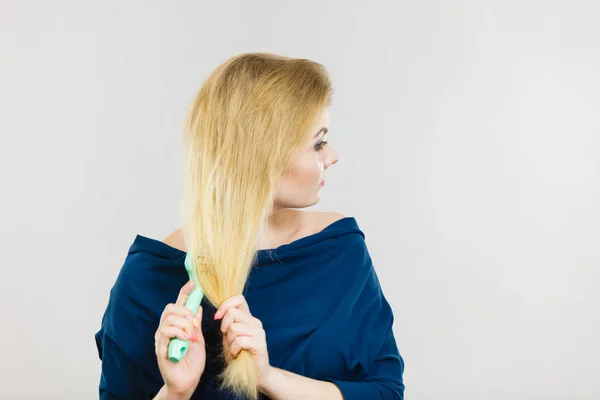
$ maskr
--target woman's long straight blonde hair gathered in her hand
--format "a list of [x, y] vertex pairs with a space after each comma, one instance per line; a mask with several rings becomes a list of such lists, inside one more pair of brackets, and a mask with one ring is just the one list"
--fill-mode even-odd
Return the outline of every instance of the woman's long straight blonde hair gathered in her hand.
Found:
[[[325, 67], [308, 59], [245, 53], [219, 65], [186, 121], [183, 235], [206, 299], [242, 294], [277, 185], [331, 104]], [[229, 348], [221, 359], [226, 360]], [[230, 354], [230, 353], [229, 353]], [[221, 388], [257, 399], [247, 350], [219, 375]]]

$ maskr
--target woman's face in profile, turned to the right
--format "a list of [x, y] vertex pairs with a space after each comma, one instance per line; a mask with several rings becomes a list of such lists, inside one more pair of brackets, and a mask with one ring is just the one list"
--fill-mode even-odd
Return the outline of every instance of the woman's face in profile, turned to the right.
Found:
[[328, 129], [329, 111], [325, 110], [281, 179], [275, 196], [277, 209], [304, 208], [319, 202], [327, 168], [338, 161], [337, 152], [327, 140]]

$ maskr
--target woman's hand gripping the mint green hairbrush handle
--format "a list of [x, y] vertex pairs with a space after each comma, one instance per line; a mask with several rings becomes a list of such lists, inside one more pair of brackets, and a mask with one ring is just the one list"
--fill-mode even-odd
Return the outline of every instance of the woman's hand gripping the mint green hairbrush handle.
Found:
[[[168, 304], [154, 335], [154, 346], [158, 359], [158, 368], [168, 393], [191, 397], [200, 382], [206, 365], [206, 348], [202, 335], [202, 306], [194, 315], [185, 307], [185, 301], [194, 289], [194, 281], [186, 283], [179, 291], [175, 304]], [[178, 337], [190, 340], [185, 356], [179, 362], [168, 358], [169, 341]], [[188, 398], [189, 398], [188, 397]]]

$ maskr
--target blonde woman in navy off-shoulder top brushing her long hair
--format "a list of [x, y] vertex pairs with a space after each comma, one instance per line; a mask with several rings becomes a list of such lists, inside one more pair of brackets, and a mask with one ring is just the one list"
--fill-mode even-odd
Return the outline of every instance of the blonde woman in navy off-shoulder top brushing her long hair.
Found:
[[[96, 344], [103, 399], [403, 399], [392, 309], [352, 217], [316, 204], [337, 153], [331, 84], [306, 59], [241, 54], [186, 125], [183, 226], [137, 235]], [[184, 269], [198, 254], [205, 297]], [[190, 340], [178, 363], [169, 341]]]

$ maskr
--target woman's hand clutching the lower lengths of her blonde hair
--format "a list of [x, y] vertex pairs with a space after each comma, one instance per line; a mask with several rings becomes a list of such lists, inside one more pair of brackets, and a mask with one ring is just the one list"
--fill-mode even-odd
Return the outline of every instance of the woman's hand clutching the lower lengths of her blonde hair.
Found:
[[271, 372], [266, 334], [262, 322], [250, 313], [246, 298], [240, 294], [225, 300], [215, 312], [215, 320], [221, 317], [227, 363], [237, 358], [242, 349], [248, 350], [257, 368], [259, 380], [265, 379]]

